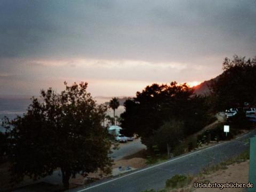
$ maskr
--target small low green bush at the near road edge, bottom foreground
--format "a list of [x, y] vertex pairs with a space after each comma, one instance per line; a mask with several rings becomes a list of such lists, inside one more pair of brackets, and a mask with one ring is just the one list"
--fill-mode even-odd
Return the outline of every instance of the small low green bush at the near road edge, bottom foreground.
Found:
[[166, 188], [182, 188], [191, 182], [192, 178], [185, 175], [174, 175], [165, 182]]

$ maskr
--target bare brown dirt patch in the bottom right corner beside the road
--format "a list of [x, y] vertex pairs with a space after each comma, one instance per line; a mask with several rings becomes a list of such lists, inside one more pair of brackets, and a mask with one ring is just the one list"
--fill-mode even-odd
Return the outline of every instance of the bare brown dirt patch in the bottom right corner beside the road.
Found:
[[[226, 183], [226, 182], [233, 182], [233, 183], [248, 183], [249, 178], [249, 160], [242, 163], [235, 163], [227, 166], [228, 169], [226, 170], [218, 170], [209, 175], [205, 175], [204, 181], [211, 182], [211, 183]], [[194, 183], [193, 183], [194, 185]], [[195, 188], [194, 188], [195, 189]], [[246, 191], [245, 188], [196, 188], [194, 192], [203, 192], [203, 191], [210, 191], [210, 192], [242, 192]]]

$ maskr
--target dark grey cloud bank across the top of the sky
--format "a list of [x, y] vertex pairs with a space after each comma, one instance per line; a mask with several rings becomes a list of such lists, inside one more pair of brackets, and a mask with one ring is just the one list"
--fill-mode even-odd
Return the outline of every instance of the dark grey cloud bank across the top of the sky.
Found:
[[151, 61], [250, 55], [256, 48], [255, 5], [255, 1], [1, 1], [0, 55]]

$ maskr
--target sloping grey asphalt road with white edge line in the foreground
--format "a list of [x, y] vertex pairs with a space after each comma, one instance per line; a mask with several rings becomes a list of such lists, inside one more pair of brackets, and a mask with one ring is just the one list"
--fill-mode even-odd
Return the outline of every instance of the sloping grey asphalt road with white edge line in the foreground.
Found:
[[175, 157], [167, 162], [133, 171], [121, 177], [94, 182], [70, 192], [130, 192], [161, 189], [165, 181], [175, 174], [196, 174], [204, 167], [225, 161], [249, 147], [245, 139], [256, 135], [256, 130], [232, 141], [219, 143], [202, 150]]

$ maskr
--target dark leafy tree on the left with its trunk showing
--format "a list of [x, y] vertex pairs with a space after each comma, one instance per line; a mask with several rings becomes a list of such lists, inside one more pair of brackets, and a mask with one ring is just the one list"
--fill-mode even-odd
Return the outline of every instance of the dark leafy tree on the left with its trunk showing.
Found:
[[101, 126], [106, 106], [96, 105], [87, 83], [74, 83], [60, 94], [41, 91], [42, 102], [33, 98], [27, 112], [12, 121], [9, 129], [9, 161], [14, 177], [45, 177], [60, 168], [63, 186], [70, 177], [101, 169], [109, 171], [112, 140]]

